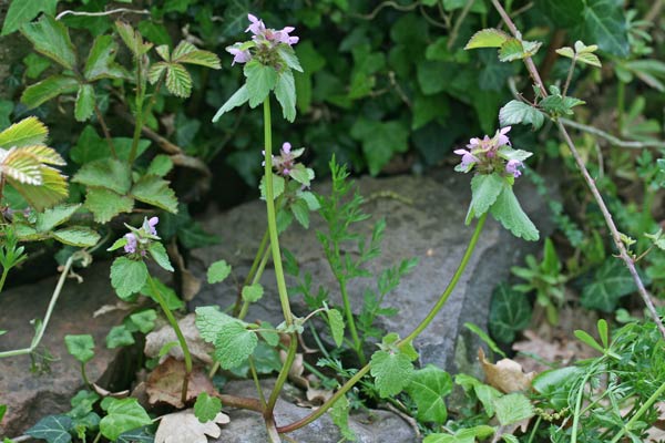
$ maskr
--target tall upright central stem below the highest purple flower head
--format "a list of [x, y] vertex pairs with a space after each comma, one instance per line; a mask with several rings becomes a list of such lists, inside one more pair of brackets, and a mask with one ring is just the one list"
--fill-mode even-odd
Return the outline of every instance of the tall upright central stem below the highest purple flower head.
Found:
[[[288, 302], [288, 293], [286, 291], [286, 280], [284, 278], [284, 268], [282, 266], [282, 253], [279, 251], [279, 235], [277, 233], [277, 220], [275, 214], [275, 193], [273, 190], [273, 130], [270, 124], [270, 96], [268, 95], [264, 101], [264, 136], [265, 136], [265, 187], [266, 187], [266, 212], [268, 215], [268, 236], [270, 241], [270, 249], [273, 251], [273, 265], [275, 266], [275, 278], [277, 280], [277, 291], [279, 292], [279, 303], [282, 305], [282, 312], [284, 313], [284, 320], [286, 326], [294, 324], [294, 316], [290, 310], [290, 305]], [[275, 409], [275, 403], [277, 402], [277, 398], [279, 396], [279, 392], [288, 378], [288, 372], [290, 367], [296, 358], [296, 351], [298, 349], [298, 338], [296, 332], [290, 334], [290, 343], [288, 348], [288, 353], [286, 356], [286, 360], [284, 365], [282, 367], [282, 371], [279, 371], [279, 375], [277, 375], [277, 381], [275, 382], [275, 388], [273, 392], [270, 392], [270, 398], [268, 399], [268, 404], [264, 412], [264, 419], [266, 420], [266, 424], [273, 423], [274, 426], [274, 418], [273, 410]], [[268, 426], [269, 429], [269, 426]]]

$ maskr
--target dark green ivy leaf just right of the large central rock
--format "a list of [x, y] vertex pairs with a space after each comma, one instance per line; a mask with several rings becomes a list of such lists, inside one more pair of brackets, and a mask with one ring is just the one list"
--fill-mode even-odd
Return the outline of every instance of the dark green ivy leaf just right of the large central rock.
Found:
[[502, 343], [512, 343], [515, 332], [531, 321], [531, 305], [522, 292], [511, 290], [507, 284], [497, 286], [490, 303], [488, 327], [492, 337]]

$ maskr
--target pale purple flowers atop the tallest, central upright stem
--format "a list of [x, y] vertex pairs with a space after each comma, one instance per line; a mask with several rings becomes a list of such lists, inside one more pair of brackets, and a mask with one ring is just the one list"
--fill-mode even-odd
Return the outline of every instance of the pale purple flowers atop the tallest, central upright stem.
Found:
[[252, 41], [254, 44], [247, 43], [235, 43], [226, 48], [226, 51], [233, 55], [233, 66], [236, 63], [247, 63], [253, 59], [253, 54], [249, 51], [250, 48], [255, 48], [258, 53], [270, 53], [279, 44], [287, 44], [293, 47], [300, 39], [296, 35], [290, 35], [296, 29], [294, 27], [285, 27], [280, 30], [266, 28], [263, 20], [256, 16], [247, 14], [249, 19], [249, 27], [245, 32], [252, 32]]

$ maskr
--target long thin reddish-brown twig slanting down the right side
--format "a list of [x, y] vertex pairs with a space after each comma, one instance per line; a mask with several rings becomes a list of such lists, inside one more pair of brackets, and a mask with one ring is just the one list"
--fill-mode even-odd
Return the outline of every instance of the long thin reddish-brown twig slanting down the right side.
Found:
[[[510, 29], [511, 33], [515, 38], [519, 39], [521, 35], [520, 31], [518, 30], [518, 28], [515, 27], [513, 21], [510, 19], [510, 17], [505, 12], [505, 10], [501, 6], [501, 3], [499, 3], [499, 0], [492, 0], [492, 4], [497, 9], [497, 11], [499, 11], [499, 14], [501, 14], [501, 18], [503, 19], [503, 21]], [[545, 90], [545, 85], [543, 84], [543, 82], [540, 78], [540, 74], [538, 72], [538, 69], [535, 68], [535, 64], [533, 63], [533, 60], [530, 56], [528, 56], [524, 59], [524, 64], [526, 65], [526, 70], [529, 71], [529, 74], [535, 81], [535, 84], [540, 89], [543, 96], [546, 96], [548, 92]], [[573, 143], [565, 126], [563, 125], [563, 123], [561, 121], [556, 121], [556, 126], [559, 127], [559, 132], [561, 133], [565, 143], [567, 144], [569, 148], [571, 150], [571, 153], [573, 154], [573, 157], [575, 158], [575, 163], [577, 164], [577, 167], [580, 168], [580, 172], [582, 173], [582, 177], [586, 182], [586, 185], [589, 186], [591, 194], [593, 195], [596, 204], [598, 205], [598, 207], [601, 209], [601, 213], [603, 214], [603, 218], [605, 218], [605, 224], [610, 228], [610, 231], [612, 233], [612, 239], [614, 240], [614, 245], [616, 246], [616, 249], [618, 250], [618, 257], [624, 261], [624, 264], [628, 268], [628, 271], [631, 272], [631, 276], [633, 277], [635, 285], [637, 286], [637, 292], [642, 297], [644, 305], [646, 305], [646, 308], [647, 308], [653, 321], [658, 327], [661, 334], [663, 336], [663, 338], [665, 338], [665, 326], [663, 326], [663, 322], [661, 321], [661, 317], [658, 316], [658, 312], [656, 311], [656, 308], [651, 299], [651, 295], [646, 291], [646, 288], [644, 287], [644, 282], [642, 281], [642, 278], [640, 278], [640, 275], [637, 274], [637, 269], [635, 268], [635, 262], [633, 261], [633, 258], [626, 250], [624, 243], [621, 240], [621, 233], [618, 231], [618, 229], [616, 228], [616, 225], [614, 224], [612, 214], [607, 209], [607, 206], [605, 205], [605, 202], [603, 200], [603, 197], [601, 196], [601, 193], [595, 185], [595, 181], [591, 177], [591, 174], [589, 174], [589, 171], [586, 169], [586, 166], [584, 165], [584, 161], [582, 159], [582, 156], [577, 152], [577, 148], [575, 147], [575, 144]]]

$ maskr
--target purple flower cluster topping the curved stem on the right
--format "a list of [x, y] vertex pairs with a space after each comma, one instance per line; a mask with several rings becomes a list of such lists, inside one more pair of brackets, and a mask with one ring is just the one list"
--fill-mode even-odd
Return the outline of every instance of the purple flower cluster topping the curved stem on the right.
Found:
[[483, 138], [471, 138], [467, 150], [456, 150], [454, 153], [462, 156], [456, 171], [469, 172], [475, 167], [484, 174], [505, 171], [515, 178], [522, 175], [520, 168], [524, 167], [524, 163], [521, 159], [508, 158], [507, 155], [507, 152], [515, 152], [507, 135], [510, 130], [511, 126], [502, 127], [491, 138], [488, 135]]

